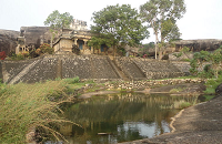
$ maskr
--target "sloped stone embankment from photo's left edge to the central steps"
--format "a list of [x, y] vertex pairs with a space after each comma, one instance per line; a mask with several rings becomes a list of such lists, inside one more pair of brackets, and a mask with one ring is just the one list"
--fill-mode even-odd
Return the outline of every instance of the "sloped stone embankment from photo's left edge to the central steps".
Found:
[[107, 56], [44, 55], [27, 61], [1, 61], [1, 69], [3, 82], [9, 84], [75, 76], [80, 79], [120, 79]]

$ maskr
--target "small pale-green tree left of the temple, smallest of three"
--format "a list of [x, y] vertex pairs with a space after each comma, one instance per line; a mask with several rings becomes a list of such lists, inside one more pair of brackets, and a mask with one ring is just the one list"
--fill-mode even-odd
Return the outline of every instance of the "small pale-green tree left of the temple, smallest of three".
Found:
[[70, 28], [73, 17], [69, 12], [60, 13], [58, 10], [54, 10], [51, 14], [48, 16], [44, 21], [44, 25], [50, 27], [51, 37], [51, 47], [54, 35], [64, 28]]

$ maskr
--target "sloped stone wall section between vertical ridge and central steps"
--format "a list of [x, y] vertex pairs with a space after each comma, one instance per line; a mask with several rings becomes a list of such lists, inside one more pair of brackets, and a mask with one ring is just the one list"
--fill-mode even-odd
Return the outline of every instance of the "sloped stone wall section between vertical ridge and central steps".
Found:
[[119, 79], [107, 56], [72, 55], [62, 58], [63, 78]]

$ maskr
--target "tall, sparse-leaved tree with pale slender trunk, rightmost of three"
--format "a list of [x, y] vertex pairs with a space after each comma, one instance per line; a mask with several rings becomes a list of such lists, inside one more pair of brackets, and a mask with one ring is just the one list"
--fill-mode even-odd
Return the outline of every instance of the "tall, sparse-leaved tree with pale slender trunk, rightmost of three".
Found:
[[[185, 13], [184, 0], [150, 0], [140, 6], [140, 13], [142, 20], [148, 22], [148, 27], [153, 29], [155, 34], [155, 59], [158, 47], [160, 49], [159, 59], [161, 59], [165, 41], [180, 38], [175, 22]], [[161, 42], [159, 39], [161, 39]]]

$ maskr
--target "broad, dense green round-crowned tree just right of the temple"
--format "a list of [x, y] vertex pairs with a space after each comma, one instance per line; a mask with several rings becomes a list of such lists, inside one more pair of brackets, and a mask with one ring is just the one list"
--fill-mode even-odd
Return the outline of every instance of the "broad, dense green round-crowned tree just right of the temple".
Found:
[[117, 49], [127, 44], [135, 47], [149, 37], [149, 31], [142, 25], [138, 11], [129, 4], [108, 6], [101, 11], [93, 12], [92, 20], [95, 23], [91, 25], [94, 35], [89, 45], [97, 49], [101, 44], [112, 47], [114, 55]]

